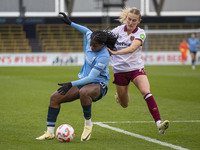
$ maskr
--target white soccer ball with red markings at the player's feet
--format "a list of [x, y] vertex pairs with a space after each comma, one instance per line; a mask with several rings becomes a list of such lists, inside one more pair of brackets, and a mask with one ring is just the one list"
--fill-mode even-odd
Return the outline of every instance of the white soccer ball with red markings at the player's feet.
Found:
[[62, 124], [56, 130], [56, 138], [61, 142], [70, 142], [74, 135], [74, 129], [68, 124]]

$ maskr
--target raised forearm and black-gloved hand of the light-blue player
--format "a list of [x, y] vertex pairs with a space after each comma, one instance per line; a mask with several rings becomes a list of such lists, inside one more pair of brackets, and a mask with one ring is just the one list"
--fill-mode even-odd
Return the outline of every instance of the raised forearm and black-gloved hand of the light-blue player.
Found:
[[71, 25], [72, 27], [76, 28], [78, 31], [80, 31], [83, 34], [86, 34], [88, 31], [91, 31], [90, 29], [82, 26], [82, 25], [78, 25], [74, 22], [72, 22], [69, 17], [64, 13], [64, 12], [60, 12], [60, 15], [62, 15], [62, 21], [68, 25]]

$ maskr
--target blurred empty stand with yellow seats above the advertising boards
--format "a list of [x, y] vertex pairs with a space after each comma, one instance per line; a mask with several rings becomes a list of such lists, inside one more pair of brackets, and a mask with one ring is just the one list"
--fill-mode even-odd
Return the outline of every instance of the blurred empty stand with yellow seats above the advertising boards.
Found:
[[193, 32], [200, 37], [199, 6], [199, 0], [0, 0], [0, 53], [82, 52], [82, 34], [65, 25], [59, 12], [104, 30], [120, 24], [124, 7], [141, 11], [144, 51], [179, 51], [183, 38]]

